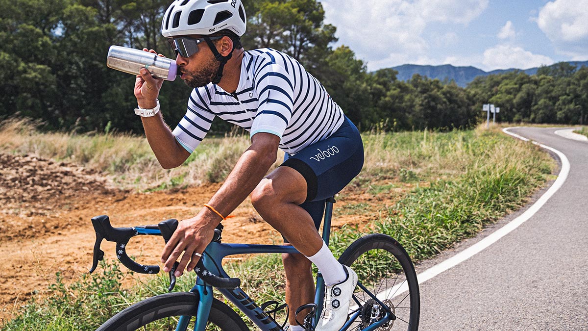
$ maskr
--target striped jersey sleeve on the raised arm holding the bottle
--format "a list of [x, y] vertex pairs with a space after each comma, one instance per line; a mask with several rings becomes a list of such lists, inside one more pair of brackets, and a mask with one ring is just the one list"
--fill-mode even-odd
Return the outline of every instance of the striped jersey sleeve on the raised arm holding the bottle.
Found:
[[211, 98], [207, 87], [195, 88], [188, 100], [188, 110], [178, 126], [173, 129], [173, 135], [178, 143], [189, 153], [192, 153], [211, 128], [215, 114], [209, 108]]

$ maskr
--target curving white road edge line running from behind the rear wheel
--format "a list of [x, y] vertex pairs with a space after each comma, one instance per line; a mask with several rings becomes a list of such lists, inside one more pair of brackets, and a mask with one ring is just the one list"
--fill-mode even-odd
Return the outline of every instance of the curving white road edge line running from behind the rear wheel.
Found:
[[[513, 128], [518, 128], [518, 127], [505, 128], [502, 131], [506, 134], [512, 135], [513, 137], [519, 138], [520, 140], [529, 141], [529, 139], [527, 139], [527, 138], [521, 137], [520, 135], [511, 133], [508, 131], [509, 129], [513, 129]], [[486, 249], [487, 247], [489, 247], [493, 243], [496, 243], [496, 241], [498, 241], [500, 238], [506, 236], [507, 233], [509, 233], [512, 230], [515, 230], [517, 227], [520, 226], [520, 224], [523, 224], [526, 220], [530, 219], [535, 213], [537, 213], [537, 211], [539, 211], [539, 209], [541, 207], [543, 207], [543, 205], [547, 202], [547, 200], [549, 200], [549, 198], [552, 197], [553, 194], [556, 193], [560, 187], [562, 187], [564, 181], [566, 181], [567, 175], [570, 172], [570, 162], [567, 160], [566, 155], [564, 155], [562, 152], [560, 152], [552, 147], [549, 147], [549, 146], [546, 146], [543, 144], [539, 144], [535, 141], [532, 141], [532, 143], [539, 145], [540, 147], [545, 148], [546, 150], [552, 151], [553, 153], [557, 154], [557, 156], [562, 161], [562, 169], [560, 170], [556, 181], [554, 181], [553, 185], [549, 188], [549, 190], [547, 190], [543, 194], [543, 196], [541, 196], [539, 198], [539, 200], [535, 201], [533, 206], [529, 207], [529, 209], [524, 211], [524, 213], [521, 214], [516, 219], [505, 224], [505, 226], [496, 230], [494, 233], [490, 234], [486, 238], [478, 241], [476, 244], [473, 244], [472, 246], [468, 247], [467, 249], [465, 249], [463, 251], [460, 251], [460, 253], [457, 253], [454, 256], [450, 257], [449, 259], [447, 259], [439, 264], [436, 264], [433, 267], [430, 267], [429, 269], [425, 270], [422, 273], [417, 274], [417, 279], [419, 280], [419, 284], [422, 284], [422, 283], [426, 282], [427, 280], [432, 279], [433, 277], [437, 276], [438, 274], [440, 274], [442, 272], [445, 272], [446, 270], [450, 269], [451, 267], [455, 267], [457, 264], [464, 262], [465, 260], [474, 256], [475, 254], [480, 253], [480, 251], [482, 251], [483, 249]], [[395, 296], [398, 296], [398, 295], [406, 292], [407, 290], [408, 290], [408, 285], [406, 284], [406, 282], [404, 282], [402, 284], [398, 284], [398, 285], [392, 287], [391, 290], [384, 290], [384, 291], [378, 293], [377, 297], [379, 299], [386, 299], [385, 292], [396, 293]]]

